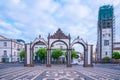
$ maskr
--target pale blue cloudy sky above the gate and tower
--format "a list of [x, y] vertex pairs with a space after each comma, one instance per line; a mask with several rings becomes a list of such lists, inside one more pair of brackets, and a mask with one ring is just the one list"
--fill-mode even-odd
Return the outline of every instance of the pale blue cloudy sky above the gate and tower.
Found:
[[120, 42], [120, 0], [0, 0], [0, 35], [27, 43], [58, 28], [72, 40], [77, 36], [96, 45], [98, 10], [113, 5], [115, 40]]

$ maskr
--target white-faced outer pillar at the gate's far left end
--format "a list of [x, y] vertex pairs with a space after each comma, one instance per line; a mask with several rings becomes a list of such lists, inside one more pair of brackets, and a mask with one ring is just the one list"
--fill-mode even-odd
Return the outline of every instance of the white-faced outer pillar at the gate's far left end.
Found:
[[33, 64], [32, 64], [32, 55], [31, 55], [31, 47], [30, 47], [30, 44], [25, 44], [25, 63], [24, 63], [24, 66], [25, 67], [33, 67]]

